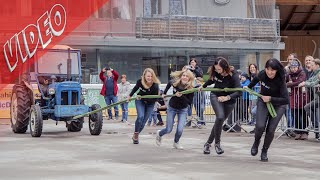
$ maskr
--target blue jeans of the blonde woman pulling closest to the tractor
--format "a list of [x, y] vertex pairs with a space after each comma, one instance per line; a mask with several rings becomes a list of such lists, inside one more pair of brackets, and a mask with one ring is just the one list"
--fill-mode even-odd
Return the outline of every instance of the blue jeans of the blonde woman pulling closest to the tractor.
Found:
[[137, 120], [135, 122], [134, 132], [140, 133], [153, 111], [154, 103], [147, 104], [143, 100], [136, 100], [135, 104], [137, 109]]

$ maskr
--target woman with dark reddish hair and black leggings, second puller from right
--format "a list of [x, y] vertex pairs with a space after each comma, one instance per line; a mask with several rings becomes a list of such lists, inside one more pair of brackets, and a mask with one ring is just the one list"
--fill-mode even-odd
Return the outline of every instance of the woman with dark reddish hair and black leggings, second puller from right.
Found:
[[[206, 88], [208, 85], [215, 84], [215, 88], [239, 88], [239, 75], [231, 72], [229, 62], [218, 57], [214, 64], [209, 69], [209, 80], [202, 86]], [[199, 88], [201, 90], [201, 87]], [[212, 108], [216, 114], [216, 121], [211, 130], [208, 141], [204, 144], [204, 154], [210, 154], [210, 147], [215, 140], [215, 150], [217, 154], [224, 153], [220, 146], [220, 137], [223, 122], [228, 118], [234, 109], [236, 98], [241, 95], [241, 92], [211, 92], [210, 101]]]

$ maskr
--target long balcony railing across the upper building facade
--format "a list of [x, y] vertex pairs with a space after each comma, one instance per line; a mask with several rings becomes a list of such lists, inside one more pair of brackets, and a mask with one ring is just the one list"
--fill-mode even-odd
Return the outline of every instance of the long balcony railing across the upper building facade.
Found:
[[139, 17], [136, 38], [280, 41], [279, 20], [197, 16]]

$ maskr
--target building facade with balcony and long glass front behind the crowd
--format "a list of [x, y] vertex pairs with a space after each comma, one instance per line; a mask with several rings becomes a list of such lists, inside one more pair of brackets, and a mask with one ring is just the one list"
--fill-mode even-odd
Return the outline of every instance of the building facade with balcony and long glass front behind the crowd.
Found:
[[144, 68], [167, 83], [195, 57], [204, 72], [217, 56], [236, 69], [280, 57], [274, 0], [110, 0], [64, 44], [82, 51], [83, 82], [112, 67], [134, 83]]

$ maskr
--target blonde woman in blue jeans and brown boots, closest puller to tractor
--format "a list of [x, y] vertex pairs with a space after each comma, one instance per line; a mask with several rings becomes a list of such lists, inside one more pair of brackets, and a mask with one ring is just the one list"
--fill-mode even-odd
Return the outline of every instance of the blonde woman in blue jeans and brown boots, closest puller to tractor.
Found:
[[150, 114], [153, 111], [153, 107], [157, 99], [142, 99], [140, 96], [144, 95], [158, 95], [159, 94], [159, 84], [160, 81], [157, 78], [156, 74], [151, 68], [146, 68], [143, 71], [141, 79], [139, 79], [132, 89], [129, 99], [133, 96], [133, 94], [139, 89], [138, 98], [135, 101], [136, 110], [137, 110], [137, 120], [135, 122], [135, 130], [132, 137], [133, 144], [139, 144], [139, 133], [144, 128]]

